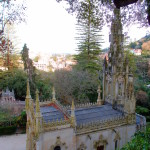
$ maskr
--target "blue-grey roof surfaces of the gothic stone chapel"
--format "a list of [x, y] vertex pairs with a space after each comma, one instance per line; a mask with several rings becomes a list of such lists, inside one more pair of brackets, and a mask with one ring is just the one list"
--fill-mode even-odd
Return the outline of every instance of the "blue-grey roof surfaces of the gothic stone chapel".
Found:
[[[64, 120], [64, 114], [54, 108], [53, 106], [44, 106], [40, 107], [43, 119], [45, 122]], [[68, 113], [71, 114], [71, 110], [68, 110]], [[93, 106], [88, 108], [76, 108], [75, 109], [77, 125], [95, 122], [101, 120], [108, 120], [116, 117], [121, 117], [124, 114], [118, 110], [112, 108], [112, 105], [105, 104], [102, 106]], [[140, 125], [141, 119], [143, 116], [136, 114], [136, 124]]]

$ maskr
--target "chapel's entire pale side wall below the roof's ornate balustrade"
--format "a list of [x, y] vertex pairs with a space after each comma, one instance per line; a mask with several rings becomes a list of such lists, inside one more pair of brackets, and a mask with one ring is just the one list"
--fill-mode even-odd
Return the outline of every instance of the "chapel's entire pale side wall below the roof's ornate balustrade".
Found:
[[120, 149], [130, 141], [135, 130], [136, 125], [126, 125], [78, 135], [72, 128], [49, 131], [39, 136], [37, 150], [54, 150], [55, 146], [60, 146], [61, 150], [96, 150], [101, 145], [104, 150], [115, 150], [116, 140]]

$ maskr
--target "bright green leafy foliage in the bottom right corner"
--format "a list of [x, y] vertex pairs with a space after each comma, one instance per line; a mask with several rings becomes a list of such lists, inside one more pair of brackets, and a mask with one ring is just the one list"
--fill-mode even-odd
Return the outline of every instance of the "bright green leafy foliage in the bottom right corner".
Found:
[[150, 149], [150, 129], [146, 132], [136, 133], [132, 140], [121, 150], [149, 150]]

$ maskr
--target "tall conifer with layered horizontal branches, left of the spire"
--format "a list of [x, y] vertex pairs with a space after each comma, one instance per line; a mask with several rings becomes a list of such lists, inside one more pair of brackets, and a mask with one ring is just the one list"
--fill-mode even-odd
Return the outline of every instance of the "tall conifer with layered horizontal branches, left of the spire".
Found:
[[78, 11], [78, 54], [75, 56], [77, 67], [81, 70], [95, 71], [100, 69], [100, 25], [99, 9], [96, 0], [84, 0]]

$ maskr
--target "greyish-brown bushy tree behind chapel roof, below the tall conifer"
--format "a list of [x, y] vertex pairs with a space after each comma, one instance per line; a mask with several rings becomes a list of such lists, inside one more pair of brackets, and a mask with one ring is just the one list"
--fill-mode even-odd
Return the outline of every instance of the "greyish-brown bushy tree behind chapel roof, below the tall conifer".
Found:
[[63, 103], [95, 102], [97, 100], [98, 76], [88, 71], [73, 69], [57, 70], [54, 76], [57, 98]]

